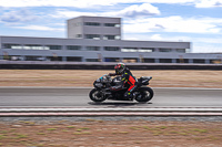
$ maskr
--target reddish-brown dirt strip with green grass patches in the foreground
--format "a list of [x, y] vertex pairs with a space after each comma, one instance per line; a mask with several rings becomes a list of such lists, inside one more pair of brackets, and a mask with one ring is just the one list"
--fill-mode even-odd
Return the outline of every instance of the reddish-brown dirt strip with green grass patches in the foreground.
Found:
[[10, 147], [222, 146], [220, 122], [83, 120], [31, 126], [13, 122], [0, 123], [0, 146]]

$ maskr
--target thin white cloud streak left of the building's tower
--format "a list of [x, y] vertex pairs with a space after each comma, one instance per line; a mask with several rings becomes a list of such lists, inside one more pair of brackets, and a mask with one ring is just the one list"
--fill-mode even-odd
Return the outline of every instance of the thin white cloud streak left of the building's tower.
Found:
[[24, 30], [37, 30], [37, 31], [64, 31], [64, 29], [61, 28], [50, 28], [43, 25], [26, 25], [26, 27], [13, 27], [13, 28], [24, 29]]

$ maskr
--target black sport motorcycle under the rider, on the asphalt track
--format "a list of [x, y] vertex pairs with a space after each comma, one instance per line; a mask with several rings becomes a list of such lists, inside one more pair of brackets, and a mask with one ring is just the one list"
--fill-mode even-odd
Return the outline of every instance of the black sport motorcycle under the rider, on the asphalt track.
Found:
[[151, 87], [149, 87], [149, 81], [152, 76], [142, 76], [138, 80], [138, 86], [133, 91], [131, 98], [124, 98], [124, 93], [129, 87], [125, 87], [121, 91], [110, 91], [111, 86], [119, 85], [121, 83], [121, 76], [115, 76], [111, 78], [110, 75], [104, 74], [98, 80], [94, 81], [93, 86], [89, 93], [89, 97], [93, 102], [103, 102], [105, 99], [112, 101], [133, 101], [137, 102], [149, 102], [152, 99], [154, 93]]

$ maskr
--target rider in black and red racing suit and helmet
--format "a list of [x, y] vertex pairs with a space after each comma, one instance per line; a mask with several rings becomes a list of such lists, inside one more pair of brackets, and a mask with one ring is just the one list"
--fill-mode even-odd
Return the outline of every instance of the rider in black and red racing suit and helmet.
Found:
[[114, 66], [115, 73], [109, 73], [110, 76], [121, 75], [121, 84], [117, 86], [110, 87], [111, 91], [120, 91], [125, 87], [129, 87], [124, 93], [125, 98], [132, 99], [132, 92], [135, 90], [138, 85], [138, 80], [132, 75], [130, 70], [125, 67], [124, 63], [118, 63]]

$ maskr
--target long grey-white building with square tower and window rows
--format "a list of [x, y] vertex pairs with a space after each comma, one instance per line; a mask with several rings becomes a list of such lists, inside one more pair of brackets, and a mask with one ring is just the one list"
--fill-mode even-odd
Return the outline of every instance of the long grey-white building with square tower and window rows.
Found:
[[121, 40], [120, 18], [79, 17], [67, 28], [67, 39], [0, 36], [0, 60], [209, 64], [222, 59], [189, 53], [190, 42]]

